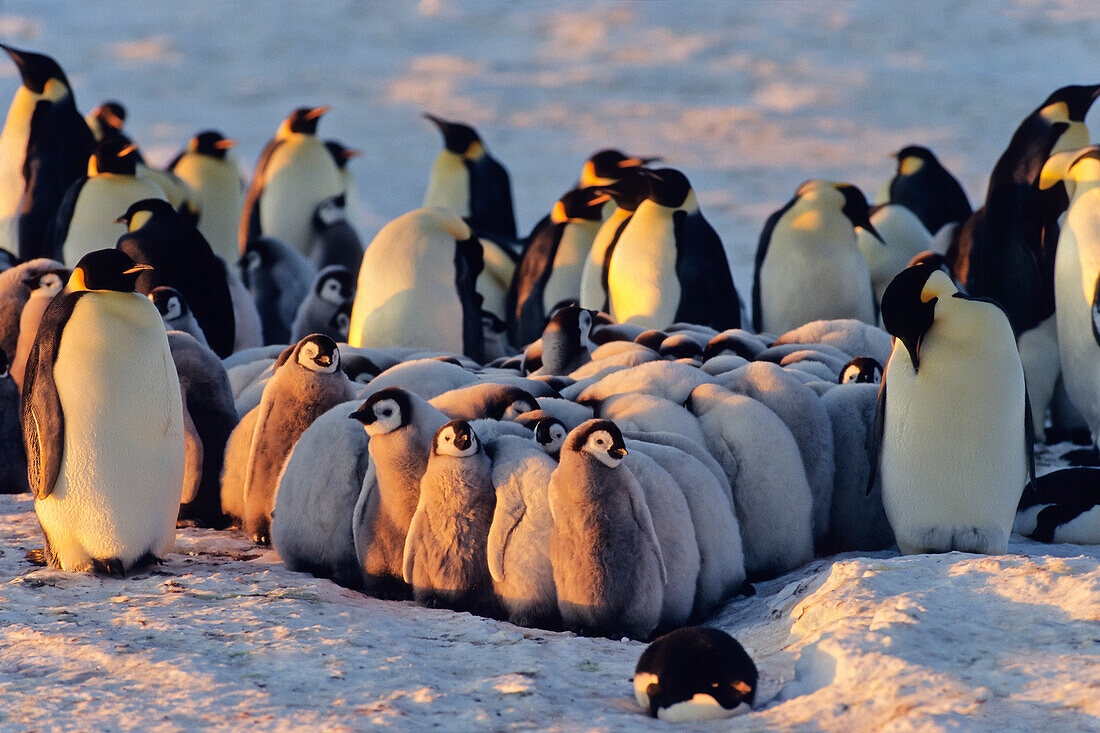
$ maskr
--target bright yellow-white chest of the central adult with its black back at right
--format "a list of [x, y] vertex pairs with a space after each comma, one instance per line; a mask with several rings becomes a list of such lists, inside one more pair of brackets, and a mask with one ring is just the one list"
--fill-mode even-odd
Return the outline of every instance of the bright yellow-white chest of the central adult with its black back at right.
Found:
[[607, 274], [612, 315], [620, 324], [664, 328], [680, 305], [672, 209], [642, 201], [615, 245]]

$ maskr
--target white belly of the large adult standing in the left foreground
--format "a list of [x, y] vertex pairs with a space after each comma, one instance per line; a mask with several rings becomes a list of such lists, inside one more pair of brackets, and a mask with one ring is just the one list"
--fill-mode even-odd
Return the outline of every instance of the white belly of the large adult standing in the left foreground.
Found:
[[54, 364], [65, 451], [54, 491], [35, 512], [64, 569], [163, 554], [175, 536], [184, 478], [179, 381], [156, 309], [134, 307], [141, 297], [85, 296]]

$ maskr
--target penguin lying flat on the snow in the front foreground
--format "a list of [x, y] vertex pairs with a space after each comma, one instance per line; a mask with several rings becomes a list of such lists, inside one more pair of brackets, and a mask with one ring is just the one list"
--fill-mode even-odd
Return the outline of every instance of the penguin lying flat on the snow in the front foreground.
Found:
[[756, 664], [733, 636], [689, 626], [646, 647], [634, 693], [646, 712], [670, 722], [728, 718], [756, 701]]

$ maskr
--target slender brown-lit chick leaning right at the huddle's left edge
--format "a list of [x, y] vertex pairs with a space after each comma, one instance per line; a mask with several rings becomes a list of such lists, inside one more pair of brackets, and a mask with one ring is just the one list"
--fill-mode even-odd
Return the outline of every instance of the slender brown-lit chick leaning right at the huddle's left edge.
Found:
[[271, 540], [271, 513], [283, 464], [306, 428], [324, 411], [355, 396], [340, 371], [340, 350], [327, 336], [307, 336], [275, 362], [264, 387], [244, 478], [244, 530]]

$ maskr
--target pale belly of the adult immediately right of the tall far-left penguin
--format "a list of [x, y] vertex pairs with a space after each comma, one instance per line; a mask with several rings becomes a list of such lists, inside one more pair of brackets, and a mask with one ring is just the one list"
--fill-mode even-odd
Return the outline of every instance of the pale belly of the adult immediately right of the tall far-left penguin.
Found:
[[62, 245], [65, 263], [72, 267], [88, 252], [114, 249], [119, 237], [127, 233], [127, 226], [114, 220], [143, 198], [167, 200], [160, 186], [134, 176], [105, 174], [89, 178], [80, 188]]

